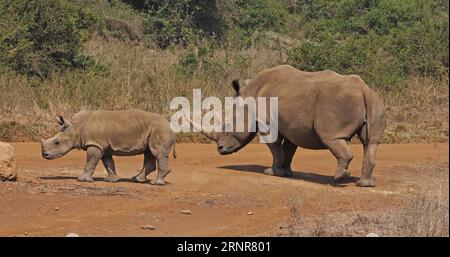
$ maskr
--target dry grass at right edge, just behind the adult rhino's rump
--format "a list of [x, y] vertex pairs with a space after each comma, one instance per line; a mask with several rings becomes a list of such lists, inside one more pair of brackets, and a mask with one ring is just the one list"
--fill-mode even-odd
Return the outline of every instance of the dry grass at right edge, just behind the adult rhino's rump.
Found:
[[448, 77], [405, 83], [401, 91], [380, 92], [388, 109], [385, 142], [448, 142]]

